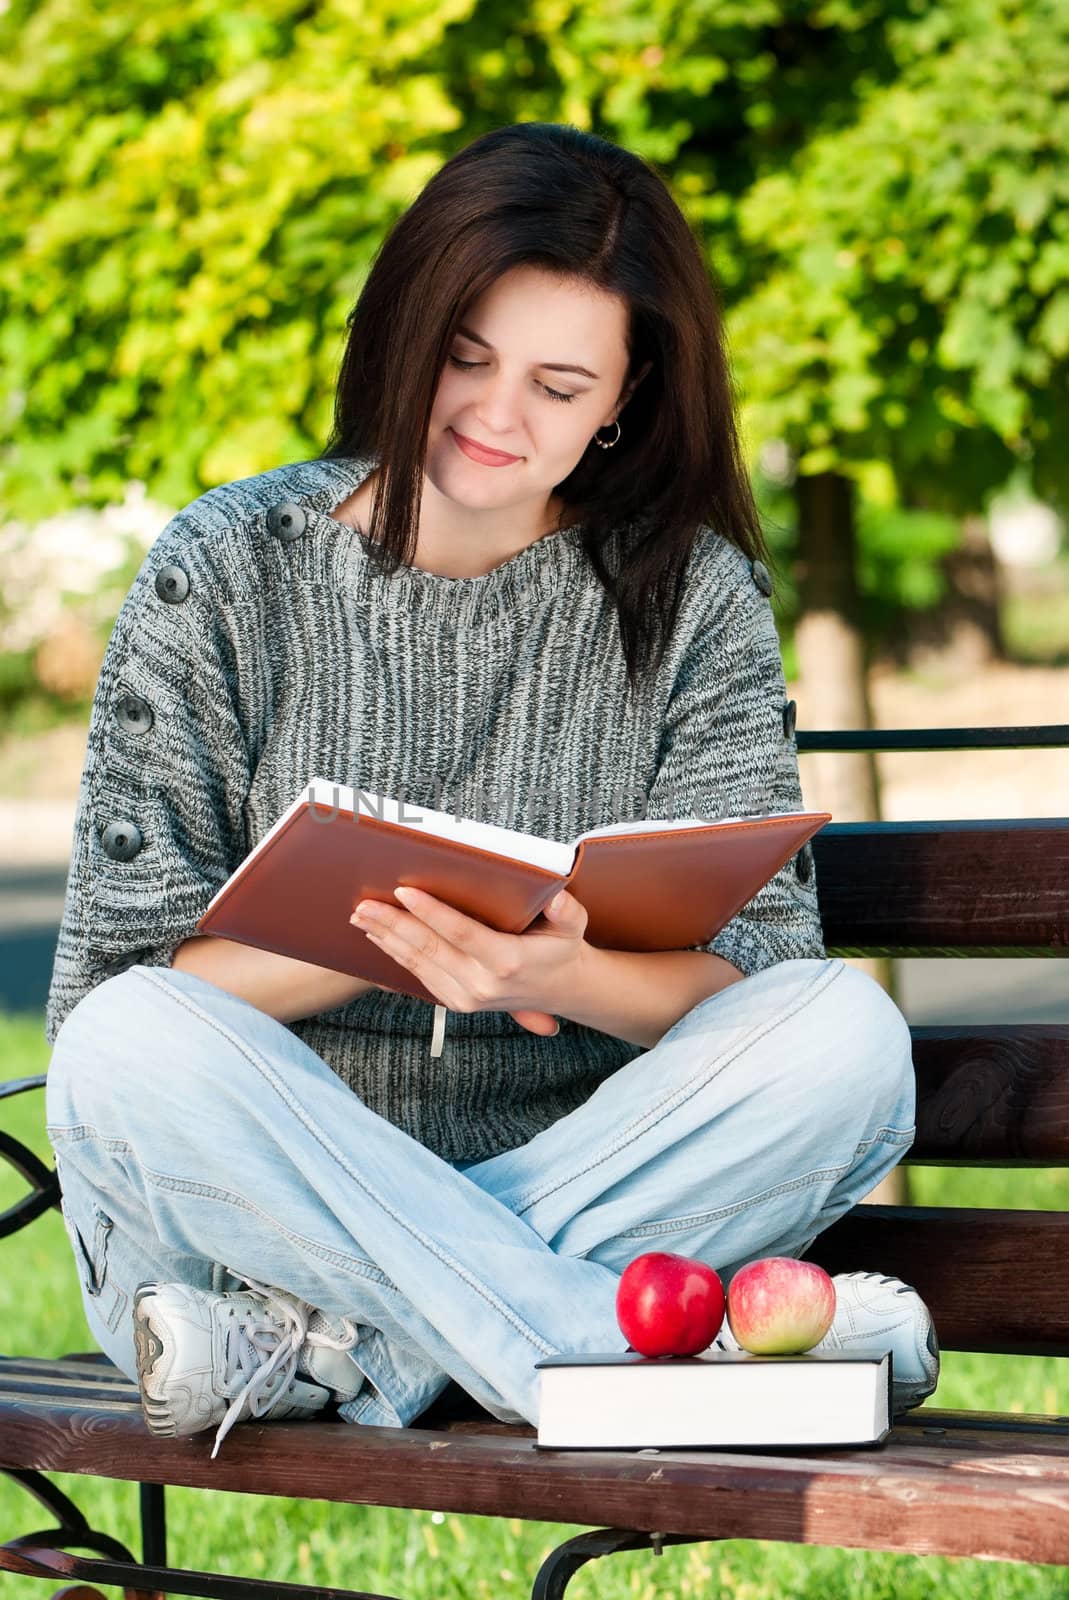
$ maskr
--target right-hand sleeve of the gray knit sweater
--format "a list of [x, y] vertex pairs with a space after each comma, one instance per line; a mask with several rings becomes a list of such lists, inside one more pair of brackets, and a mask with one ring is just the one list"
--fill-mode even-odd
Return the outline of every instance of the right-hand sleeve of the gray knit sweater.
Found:
[[[786, 706], [771, 602], [747, 574], [680, 664], [647, 816], [803, 808], [797, 744], [784, 731]], [[746, 976], [776, 962], [824, 958], [811, 846], [792, 856], [720, 933], [690, 949], [722, 955]]]

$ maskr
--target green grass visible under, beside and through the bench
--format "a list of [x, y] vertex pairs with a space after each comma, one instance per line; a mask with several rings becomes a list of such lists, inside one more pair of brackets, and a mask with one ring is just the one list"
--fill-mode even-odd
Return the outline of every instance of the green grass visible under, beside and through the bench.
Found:
[[[48, 1066], [40, 1018], [0, 1014], [2, 1077]], [[0, 1123], [43, 1158], [43, 1096], [19, 1096]], [[919, 1205], [1069, 1208], [1069, 1173], [909, 1168]], [[0, 1171], [0, 1210], [19, 1182]], [[54, 1211], [0, 1242], [0, 1347], [10, 1354], [62, 1355], [94, 1349], [62, 1222]], [[879, 1262], [874, 1262], [879, 1266]], [[995, 1357], [946, 1352], [939, 1406], [1058, 1411], [1066, 1406], [1059, 1357]], [[138, 1552], [138, 1501], [130, 1483], [53, 1474], [90, 1525]], [[583, 1531], [571, 1523], [522, 1523], [490, 1517], [282, 1501], [256, 1494], [168, 1490], [171, 1565], [378, 1590], [402, 1600], [523, 1600], [541, 1560]], [[48, 1522], [35, 1502], [0, 1477], [0, 1542]], [[0, 1600], [45, 1600], [46, 1581], [0, 1574]], [[104, 1590], [120, 1600], [118, 1590]], [[575, 1600], [1055, 1600], [1066, 1573], [1055, 1566], [947, 1557], [888, 1555], [819, 1546], [731, 1539], [615, 1555], [584, 1568], [570, 1584]]]

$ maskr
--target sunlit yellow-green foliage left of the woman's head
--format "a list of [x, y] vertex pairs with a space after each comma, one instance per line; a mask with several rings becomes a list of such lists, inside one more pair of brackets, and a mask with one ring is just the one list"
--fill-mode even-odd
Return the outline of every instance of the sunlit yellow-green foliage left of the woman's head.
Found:
[[[376, 243], [440, 165], [466, 0], [0, 19], [5, 499], [181, 504], [312, 454]], [[421, 149], [422, 141], [429, 149]]]

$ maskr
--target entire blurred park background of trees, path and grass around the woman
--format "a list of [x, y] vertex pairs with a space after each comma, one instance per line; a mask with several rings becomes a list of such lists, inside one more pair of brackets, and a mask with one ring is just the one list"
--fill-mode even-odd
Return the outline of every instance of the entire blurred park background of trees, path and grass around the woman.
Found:
[[[1069, 723], [1064, 0], [8, 0], [5, 1077], [46, 1066], [88, 710], [146, 550], [203, 490], [322, 450], [384, 230], [454, 150], [526, 120], [653, 162], [706, 250], [799, 730]], [[800, 766], [807, 803], [837, 821], [1056, 816], [1069, 794], [1066, 750]], [[1069, 1019], [1063, 962], [872, 970], [914, 1022]], [[968, 1173], [901, 1173], [920, 1203], [1069, 1203], [1064, 1174], [1002, 1192], [991, 1174], [970, 1190]], [[18, 1347], [88, 1349], [62, 1245], [46, 1274], [38, 1245], [19, 1248], [51, 1298], [32, 1314], [40, 1342]], [[943, 1405], [1053, 1411], [1064, 1386], [1055, 1358], [957, 1362]], [[448, 1518], [430, 1581], [437, 1514], [226, 1501], [229, 1523], [203, 1514], [221, 1570], [262, 1571], [275, 1528], [269, 1576], [371, 1582], [350, 1563], [358, 1525], [378, 1582], [400, 1562], [406, 1595], [525, 1594], [551, 1542]], [[757, 1544], [602, 1565], [583, 1592], [1055, 1594], [1040, 1568]]]

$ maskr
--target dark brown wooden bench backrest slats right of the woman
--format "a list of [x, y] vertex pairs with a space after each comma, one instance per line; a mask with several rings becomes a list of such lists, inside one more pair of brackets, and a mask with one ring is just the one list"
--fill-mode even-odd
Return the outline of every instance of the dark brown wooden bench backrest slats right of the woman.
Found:
[[[1069, 726], [799, 731], [797, 744], [1069, 747]], [[1069, 957], [1069, 818], [829, 822], [811, 850], [829, 955]], [[904, 1166], [1069, 1165], [1069, 1022], [911, 1034], [917, 1138]], [[944, 1349], [1069, 1355], [1069, 1213], [861, 1205], [807, 1256], [912, 1283]]]

